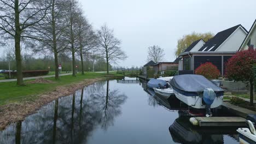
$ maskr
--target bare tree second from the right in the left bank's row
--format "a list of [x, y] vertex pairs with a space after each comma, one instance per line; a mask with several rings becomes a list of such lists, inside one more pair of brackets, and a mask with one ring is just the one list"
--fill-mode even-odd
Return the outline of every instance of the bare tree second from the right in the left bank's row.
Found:
[[[81, 13], [82, 14], [82, 13]], [[81, 70], [84, 75], [84, 61], [83, 56], [88, 56], [89, 51], [96, 46], [96, 34], [92, 26], [88, 23], [83, 15], [79, 16], [78, 20], [78, 46], [79, 55], [81, 59]]]

